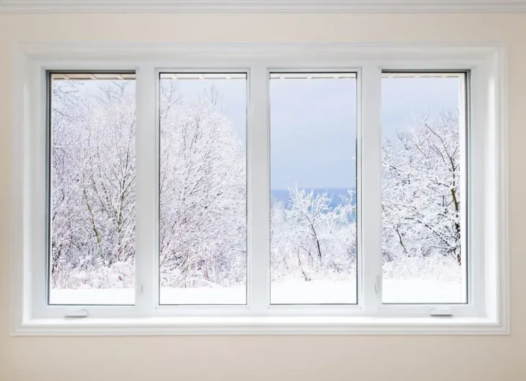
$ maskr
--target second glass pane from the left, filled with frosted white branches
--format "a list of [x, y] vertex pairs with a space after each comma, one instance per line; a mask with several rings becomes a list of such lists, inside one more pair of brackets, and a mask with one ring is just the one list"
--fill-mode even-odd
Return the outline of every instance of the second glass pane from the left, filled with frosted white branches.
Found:
[[160, 75], [160, 304], [247, 302], [247, 75]]

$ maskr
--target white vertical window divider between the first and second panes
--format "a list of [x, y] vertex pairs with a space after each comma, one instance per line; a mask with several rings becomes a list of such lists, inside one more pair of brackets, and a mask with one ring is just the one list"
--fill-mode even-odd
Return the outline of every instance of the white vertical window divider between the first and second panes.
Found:
[[151, 315], [157, 304], [158, 94], [153, 65], [136, 70], [136, 311]]

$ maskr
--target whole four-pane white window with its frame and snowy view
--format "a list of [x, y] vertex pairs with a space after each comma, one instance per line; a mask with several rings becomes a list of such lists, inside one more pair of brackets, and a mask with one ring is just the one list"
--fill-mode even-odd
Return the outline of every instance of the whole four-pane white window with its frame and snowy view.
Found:
[[507, 332], [501, 49], [129, 49], [16, 66], [15, 332]]

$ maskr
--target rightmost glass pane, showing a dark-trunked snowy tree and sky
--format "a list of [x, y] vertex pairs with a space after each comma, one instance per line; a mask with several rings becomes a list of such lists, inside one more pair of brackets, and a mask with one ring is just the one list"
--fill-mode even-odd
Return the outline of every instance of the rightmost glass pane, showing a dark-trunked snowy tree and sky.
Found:
[[384, 73], [384, 303], [465, 303], [464, 73]]

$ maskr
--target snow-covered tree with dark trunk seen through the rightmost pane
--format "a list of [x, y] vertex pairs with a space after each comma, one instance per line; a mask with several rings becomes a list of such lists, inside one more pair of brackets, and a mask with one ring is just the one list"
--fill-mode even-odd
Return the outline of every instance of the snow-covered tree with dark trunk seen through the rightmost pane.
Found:
[[460, 254], [458, 112], [416, 121], [382, 146], [384, 261]]

